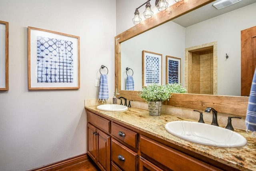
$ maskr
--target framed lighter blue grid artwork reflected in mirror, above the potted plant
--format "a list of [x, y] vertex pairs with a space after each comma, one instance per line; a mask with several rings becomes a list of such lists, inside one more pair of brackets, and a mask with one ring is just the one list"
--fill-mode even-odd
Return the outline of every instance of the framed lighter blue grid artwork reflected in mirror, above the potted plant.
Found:
[[142, 86], [162, 84], [162, 54], [142, 51]]

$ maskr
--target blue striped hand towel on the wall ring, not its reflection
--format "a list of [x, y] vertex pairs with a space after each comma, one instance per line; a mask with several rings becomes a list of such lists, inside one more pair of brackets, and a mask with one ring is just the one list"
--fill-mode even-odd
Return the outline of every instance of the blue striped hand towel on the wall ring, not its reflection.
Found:
[[98, 100], [102, 101], [102, 103], [108, 100], [108, 76], [106, 74], [101, 74], [100, 76]]

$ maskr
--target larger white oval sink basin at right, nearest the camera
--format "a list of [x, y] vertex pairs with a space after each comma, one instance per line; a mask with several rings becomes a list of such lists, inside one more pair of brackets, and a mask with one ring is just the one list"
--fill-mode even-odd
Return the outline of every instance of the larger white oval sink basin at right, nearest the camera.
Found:
[[172, 135], [202, 145], [233, 148], [247, 144], [239, 133], [206, 123], [172, 121], [166, 123], [165, 129]]

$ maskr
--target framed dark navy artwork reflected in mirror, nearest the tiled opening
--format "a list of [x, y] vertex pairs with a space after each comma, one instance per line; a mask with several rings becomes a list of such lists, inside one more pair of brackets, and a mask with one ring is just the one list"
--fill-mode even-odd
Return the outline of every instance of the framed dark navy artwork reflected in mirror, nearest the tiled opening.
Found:
[[166, 84], [180, 84], [180, 58], [166, 56]]

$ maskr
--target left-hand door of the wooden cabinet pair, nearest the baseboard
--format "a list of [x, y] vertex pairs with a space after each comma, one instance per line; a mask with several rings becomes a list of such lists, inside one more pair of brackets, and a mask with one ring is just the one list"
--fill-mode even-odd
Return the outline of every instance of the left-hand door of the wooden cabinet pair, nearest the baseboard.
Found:
[[96, 161], [96, 145], [96, 127], [87, 123], [87, 153], [94, 161]]

